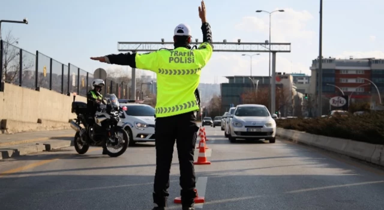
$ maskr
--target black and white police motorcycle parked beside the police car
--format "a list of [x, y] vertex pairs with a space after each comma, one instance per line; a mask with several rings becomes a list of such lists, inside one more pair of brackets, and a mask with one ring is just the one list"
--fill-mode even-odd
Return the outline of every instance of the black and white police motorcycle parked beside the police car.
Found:
[[[85, 154], [89, 146], [103, 147], [104, 151], [110, 157], [118, 157], [122, 155], [129, 143], [127, 132], [120, 126], [121, 121], [119, 115], [127, 107], [120, 107], [118, 98], [115, 94], [108, 94], [103, 103], [99, 104], [98, 111], [94, 116], [88, 116], [87, 104], [81, 101], [75, 101], [76, 95], [73, 96], [72, 113], [76, 113], [77, 117], [71, 121], [71, 128], [76, 131], [74, 136], [74, 148], [79, 154]], [[87, 118], [88, 117], [88, 118]], [[94, 124], [89, 125], [94, 117]], [[84, 127], [81, 127], [83, 124]], [[111, 151], [118, 150], [119, 151]]]

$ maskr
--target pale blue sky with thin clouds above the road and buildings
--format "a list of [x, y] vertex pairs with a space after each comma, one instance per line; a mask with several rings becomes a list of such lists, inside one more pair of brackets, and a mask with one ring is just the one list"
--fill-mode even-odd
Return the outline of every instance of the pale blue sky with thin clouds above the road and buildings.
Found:
[[[2, 24], [3, 34], [12, 30], [20, 38], [19, 47], [39, 50], [89, 72], [99, 67], [121, 68], [89, 59], [118, 53], [118, 41], [172, 41], [179, 23], [189, 24], [194, 38], [202, 40], [199, 0], [12, 0], [0, 5], [0, 19], [28, 18], [28, 25]], [[291, 53], [278, 54], [276, 71], [310, 74], [311, 60], [318, 56], [319, 0], [205, 0], [205, 5], [214, 41], [264, 42], [268, 15], [255, 10], [286, 10], [274, 13], [271, 20], [271, 41], [292, 43]], [[384, 58], [382, 8], [384, 1], [379, 0], [324, 0], [323, 56]], [[201, 82], [213, 83], [215, 77], [226, 82], [222, 76], [249, 75], [250, 58], [241, 54], [215, 53]], [[126, 72], [126, 67], [121, 69]], [[268, 74], [267, 53], [253, 58], [252, 72]]]

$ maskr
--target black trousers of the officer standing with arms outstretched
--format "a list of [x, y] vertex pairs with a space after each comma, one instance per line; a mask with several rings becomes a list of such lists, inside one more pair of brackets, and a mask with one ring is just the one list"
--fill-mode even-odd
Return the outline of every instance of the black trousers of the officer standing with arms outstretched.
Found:
[[199, 127], [194, 112], [156, 118], [156, 174], [153, 201], [166, 207], [169, 196], [169, 173], [176, 142], [180, 165], [181, 202], [183, 207], [194, 204], [196, 177], [194, 151]]

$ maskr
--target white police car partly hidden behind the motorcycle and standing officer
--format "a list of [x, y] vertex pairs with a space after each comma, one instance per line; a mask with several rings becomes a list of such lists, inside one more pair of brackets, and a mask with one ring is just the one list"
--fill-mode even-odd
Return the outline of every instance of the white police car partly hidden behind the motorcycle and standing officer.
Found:
[[[120, 103], [121, 100], [119, 100]], [[154, 142], [155, 141], [155, 109], [152, 106], [133, 101], [121, 101], [120, 106], [127, 107], [121, 114], [119, 126], [127, 131], [129, 144], [136, 142]]]

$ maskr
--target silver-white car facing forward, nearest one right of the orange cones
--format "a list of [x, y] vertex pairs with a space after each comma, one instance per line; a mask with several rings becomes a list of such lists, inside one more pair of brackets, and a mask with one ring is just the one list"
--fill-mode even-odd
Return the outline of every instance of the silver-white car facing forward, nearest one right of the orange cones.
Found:
[[242, 104], [238, 105], [228, 126], [228, 139], [265, 139], [270, 143], [276, 141], [276, 114], [270, 114], [264, 105]]

